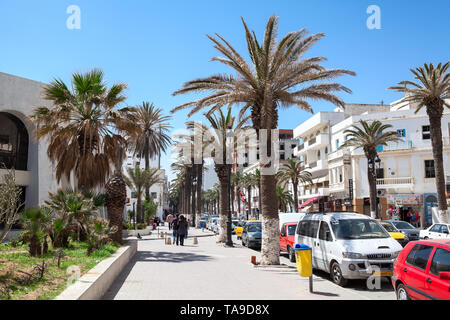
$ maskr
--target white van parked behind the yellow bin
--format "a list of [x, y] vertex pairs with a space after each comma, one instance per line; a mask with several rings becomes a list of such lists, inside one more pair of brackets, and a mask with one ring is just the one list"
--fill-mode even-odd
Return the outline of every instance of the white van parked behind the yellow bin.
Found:
[[313, 268], [330, 273], [341, 286], [374, 271], [392, 276], [403, 249], [376, 220], [350, 212], [306, 214], [297, 225], [295, 244], [311, 247]]

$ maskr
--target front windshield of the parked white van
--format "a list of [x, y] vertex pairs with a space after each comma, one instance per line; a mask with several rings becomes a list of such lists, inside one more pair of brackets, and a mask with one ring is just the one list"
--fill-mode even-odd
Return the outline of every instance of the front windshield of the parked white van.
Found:
[[389, 233], [374, 220], [334, 220], [331, 225], [336, 238], [340, 240], [390, 238]]

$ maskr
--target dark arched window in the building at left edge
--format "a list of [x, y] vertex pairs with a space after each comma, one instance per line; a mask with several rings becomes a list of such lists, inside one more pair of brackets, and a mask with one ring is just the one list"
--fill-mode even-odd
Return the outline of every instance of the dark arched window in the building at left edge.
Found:
[[27, 170], [28, 132], [16, 116], [0, 112], [0, 166]]

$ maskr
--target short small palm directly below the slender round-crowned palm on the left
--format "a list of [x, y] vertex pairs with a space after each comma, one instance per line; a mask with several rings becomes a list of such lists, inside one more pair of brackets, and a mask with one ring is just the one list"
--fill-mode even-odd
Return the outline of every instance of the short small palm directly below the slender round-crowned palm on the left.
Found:
[[142, 194], [144, 189], [150, 189], [152, 185], [161, 181], [159, 169], [142, 170], [138, 165], [134, 168], [127, 168], [128, 176], [124, 176], [127, 186], [136, 194], [136, 216], [137, 222], [144, 222], [144, 215], [142, 212]]

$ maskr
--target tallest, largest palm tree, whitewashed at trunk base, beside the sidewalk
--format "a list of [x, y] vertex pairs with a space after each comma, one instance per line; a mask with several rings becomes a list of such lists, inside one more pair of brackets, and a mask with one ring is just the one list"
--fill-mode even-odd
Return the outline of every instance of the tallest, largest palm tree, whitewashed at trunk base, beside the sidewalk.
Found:
[[[174, 95], [205, 92], [209, 95], [182, 104], [172, 112], [192, 108], [189, 116], [209, 108], [208, 115], [225, 105], [240, 106], [240, 115], [251, 112], [253, 128], [258, 138], [260, 129], [268, 130], [267, 155], [272, 155], [272, 129], [278, 126], [278, 108], [297, 106], [312, 112], [307, 99], [326, 100], [344, 107], [344, 102], [334, 92], [351, 92], [348, 88], [326, 80], [354, 72], [342, 69], [325, 69], [320, 65], [323, 57], [304, 58], [306, 51], [324, 34], [307, 35], [307, 31], [288, 33], [276, 41], [278, 18], [272, 16], [266, 25], [264, 40], [260, 43], [242, 19], [250, 54], [251, 64], [221, 36], [208, 36], [225, 57], [213, 58], [237, 72], [238, 76], [217, 74], [207, 78], [189, 81]], [[261, 141], [260, 141], [261, 142]], [[278, 265], [279, 257], [279, 219], [276, 205], [276, 179], [272, 163], [264, 164], [261, 175], [261, 197], [263, 215], [263, 239], [261, 264]]]

